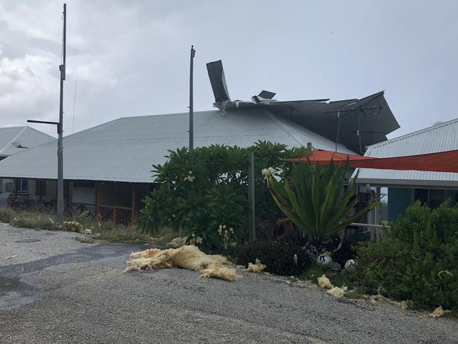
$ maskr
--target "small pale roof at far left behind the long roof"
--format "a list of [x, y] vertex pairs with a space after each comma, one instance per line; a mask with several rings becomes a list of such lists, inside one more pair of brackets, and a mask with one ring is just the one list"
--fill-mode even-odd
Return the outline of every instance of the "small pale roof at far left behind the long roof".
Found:
[[0, 156], [13, 155], [25, 148], [53, 142], [54, 137], [30, 127], [0, 128]]

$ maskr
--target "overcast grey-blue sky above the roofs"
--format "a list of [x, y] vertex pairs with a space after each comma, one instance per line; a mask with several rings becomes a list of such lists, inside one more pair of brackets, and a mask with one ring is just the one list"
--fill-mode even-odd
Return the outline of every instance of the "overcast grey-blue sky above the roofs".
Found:
[[[58, 120], [61, 1], [0, 1], [0, 127]], [[361, 98], [380, 90], [401, 128], [458, 117], [458, 1], [68, 1], [66, 135], [121, 116], [212, 109], [229, 94]], [[55, 135], [55, 128], [34, 125]]]

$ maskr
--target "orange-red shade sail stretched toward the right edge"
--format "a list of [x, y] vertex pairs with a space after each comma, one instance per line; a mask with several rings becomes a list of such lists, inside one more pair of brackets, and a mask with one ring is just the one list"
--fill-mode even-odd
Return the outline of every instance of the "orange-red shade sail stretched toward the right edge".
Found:
[[308, 156], [296, 159], [287, 159], [287, 161], [297, 163], [299, 161], [307, 161], [307, 158], [311, 162], [322, 166], [328, 166], [331, 160], [334, 161], [335, 166], [344, 166], [348, 158], [350, 168], [458, 173], [458, 149], [439, 153], [396, 156], [394, 158], [371, 158], [370, 156], [315, 149]]

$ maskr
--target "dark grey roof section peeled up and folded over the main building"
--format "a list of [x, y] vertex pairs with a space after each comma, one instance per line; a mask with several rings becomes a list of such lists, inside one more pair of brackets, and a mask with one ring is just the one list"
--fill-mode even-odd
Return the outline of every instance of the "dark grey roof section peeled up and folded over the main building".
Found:
[[215, 96], [213, 105], [218, 109], [266, 109], [358, 154], [363, 154], [367, 146], [387, 140], [386, 135], [400, 128], [384, 91], [361, 99], [328, 102], [330, 99], [278, 101], [273, 99], [276, 93], [264, 90], [251, 101], [231, 101], [222, 61], [210, 62], [206, 66]]

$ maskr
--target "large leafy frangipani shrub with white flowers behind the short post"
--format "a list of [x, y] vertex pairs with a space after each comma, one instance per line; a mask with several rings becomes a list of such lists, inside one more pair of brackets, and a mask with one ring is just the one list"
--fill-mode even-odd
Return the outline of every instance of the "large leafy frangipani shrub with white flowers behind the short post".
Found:
[[[156, 190], [143, 199], [144, 209], [137, 228], [154, 235], [161, 228], [182, 231], [207, 251], [227, 250], [247, 236], [248, 152], [255, 152], [256, 214], [258, 219], [276, 219], [276, 208], [261, 170], [283, 166], [282, 159], [302, 156], [307, 149], [257, 142], [247, 149], [211, 145], [193, 152], [170, 151], [168, 161], [154, 167]], [[288, 167], [284, 168], [285, 171]]]

